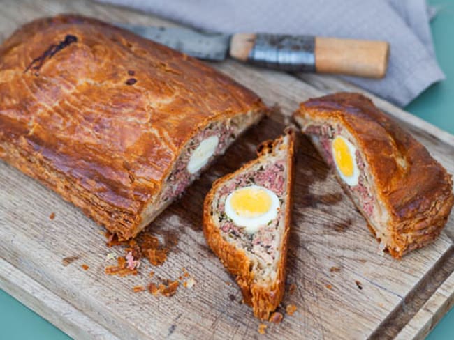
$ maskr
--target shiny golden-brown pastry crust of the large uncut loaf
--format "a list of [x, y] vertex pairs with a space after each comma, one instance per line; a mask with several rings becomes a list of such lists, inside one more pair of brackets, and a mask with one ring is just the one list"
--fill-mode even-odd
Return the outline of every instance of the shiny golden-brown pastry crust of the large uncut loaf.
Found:
[[120, 238], [191, 137], [264, 111], [204, 63], [86, 17], [36, 20], [0, 47], [0, 157]]

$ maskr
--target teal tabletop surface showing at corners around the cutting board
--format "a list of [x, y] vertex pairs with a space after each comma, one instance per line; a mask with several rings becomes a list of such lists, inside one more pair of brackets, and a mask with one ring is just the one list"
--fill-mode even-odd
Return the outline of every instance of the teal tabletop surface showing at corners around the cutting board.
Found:
[[[439, 9], [432, 34], [446, 80], [427, 88], [405, 109], [454, 134], [454, 1], [430, 0]], [[453, 217], [451, 217], [453, 218]], [[0, 290], [0, 339], [71, 339], [13, 297]], [[427, 340], [454, 339], [454, 309], [444, 316]]]

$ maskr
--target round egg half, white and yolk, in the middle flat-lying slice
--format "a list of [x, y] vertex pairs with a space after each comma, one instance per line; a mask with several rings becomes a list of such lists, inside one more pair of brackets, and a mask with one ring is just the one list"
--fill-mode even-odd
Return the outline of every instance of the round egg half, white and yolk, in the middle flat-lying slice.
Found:
[[280, 202], [274, 192], [260, 185], [240, 187], [227, 196], [226, 215], [247, 233], [255, 233], [276, 219]]

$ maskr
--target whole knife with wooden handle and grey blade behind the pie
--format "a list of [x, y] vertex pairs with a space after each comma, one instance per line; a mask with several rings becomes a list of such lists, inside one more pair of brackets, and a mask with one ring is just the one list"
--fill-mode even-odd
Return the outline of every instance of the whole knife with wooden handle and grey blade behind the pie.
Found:
[[227, 56], [264, 68], [382, 78], [389, 44], [379, 40], [290, 36], [268, 33], [213, 33], [180, 27], [116, 24], [138, 36], [209, 61]]

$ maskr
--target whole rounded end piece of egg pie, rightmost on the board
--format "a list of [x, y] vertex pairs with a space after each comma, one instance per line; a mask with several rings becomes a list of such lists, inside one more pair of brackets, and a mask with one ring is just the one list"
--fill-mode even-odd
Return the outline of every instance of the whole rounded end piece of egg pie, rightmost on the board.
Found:
[[395, 258], [437, 238], [453, 206], [453, 182], [427, 149], [357, 93], [303, 102], [295, 121], [369, 229]]

